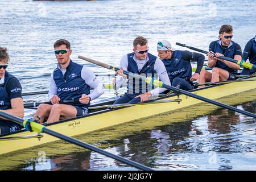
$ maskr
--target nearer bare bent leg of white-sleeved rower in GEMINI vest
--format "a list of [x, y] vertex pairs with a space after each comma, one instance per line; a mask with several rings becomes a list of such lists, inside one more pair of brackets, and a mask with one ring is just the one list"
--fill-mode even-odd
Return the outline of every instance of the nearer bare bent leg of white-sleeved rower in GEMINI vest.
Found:
[[61, 119], [75, 118], [77, 114], [76, 107], [66, 104], [54, 104], [52, 105], [51, 112], [47, 119], [47, 123], [53, 123], [60, 121]]

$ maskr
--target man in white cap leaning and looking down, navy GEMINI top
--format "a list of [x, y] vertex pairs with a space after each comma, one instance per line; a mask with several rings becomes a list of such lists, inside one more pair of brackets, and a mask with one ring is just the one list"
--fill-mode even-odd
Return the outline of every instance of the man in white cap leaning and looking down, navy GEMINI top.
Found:
[[[168, 40], [158, 42], [157, 51], [160, 60], [166, 67], [171, 85], [183, 90], [192, 90], [194, 88], [193, 81], [199, 78], [199, 73], [204, 65], [204, 55], [176, 50]], [[197, 61], [196, 72], [193, 75], [191, 60]]]

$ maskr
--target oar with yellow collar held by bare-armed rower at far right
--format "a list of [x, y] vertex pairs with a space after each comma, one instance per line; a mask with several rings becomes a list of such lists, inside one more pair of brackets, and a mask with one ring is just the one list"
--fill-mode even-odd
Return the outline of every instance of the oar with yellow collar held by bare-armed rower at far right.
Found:
[[[208, 51], [204, 51], [202, 49], [191, 47], [191, 46], [186, 46], [185, 44], [181, 44], [181, 43], [178, 43], [178, 42], [176, 42], [176, 45], [181, 46], [181, 47], [187, 47], [187, 48], [192, 49], [194, 51], [205, 53], [205, 54], [209, 53]], [[256, 65], [253, 65], [251, 63], [246, 63], [245, 60], [235, 60], [235, 59], [232, 59], [232, 58], [226, 57], [226, 56], [220, 56], [218, 58], [226, 60], [226, 61], [230, 61], [232, 63], [236, 63], [236, 64], [240, 65], [240, 67], [243, 67], [243, 68], [255, 69], [256, 70]]]

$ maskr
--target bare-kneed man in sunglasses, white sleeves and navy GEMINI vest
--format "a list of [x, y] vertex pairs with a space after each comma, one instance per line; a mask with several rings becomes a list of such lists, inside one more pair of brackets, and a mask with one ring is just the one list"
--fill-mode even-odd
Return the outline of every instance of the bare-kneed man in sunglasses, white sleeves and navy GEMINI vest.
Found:
[[[90, 101], [104, 93], [104, 86], [87, 67], [73, 62], [70, 43], [60, 39], [54, 43], [57, 68], [51, 74], [48, 97], [52, 105], [41, 104], [34, 119], [40, 123], [79, 117], [89, 113]], [[93, 92], [90, 93], [90, 88]], [[59, 104], [60, 101], [74, 100], [73, 104]]]

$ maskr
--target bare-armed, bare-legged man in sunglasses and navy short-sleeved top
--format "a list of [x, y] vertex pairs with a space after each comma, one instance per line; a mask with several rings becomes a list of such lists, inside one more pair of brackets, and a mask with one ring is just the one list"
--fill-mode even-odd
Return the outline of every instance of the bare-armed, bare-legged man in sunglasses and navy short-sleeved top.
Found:
[[232, 41], [233, 27], [229, 24], [221, 26], [219, 40], [213, 41], [209, 45], [208, 66], [212, 73], [201, 70], [199, 84], [204, 82], [219, 82], [226, 80], [236, 80], [237, 71], [240, 66], [230, 61], [219, 59], [220, 56], [230, 57], [235, 60], [242, 59], [242, 49], [239, 44]]

